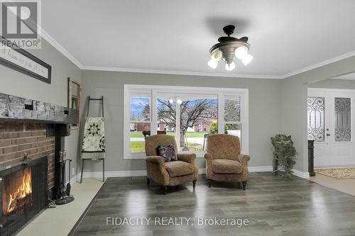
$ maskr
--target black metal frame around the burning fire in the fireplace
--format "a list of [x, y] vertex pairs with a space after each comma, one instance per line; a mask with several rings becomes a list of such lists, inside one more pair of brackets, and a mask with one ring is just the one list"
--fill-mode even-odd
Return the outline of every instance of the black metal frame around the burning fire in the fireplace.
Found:
[[[23, 169], [31, 169], [33, 202], [18, 212], [4, 215], [3, 184], [4, 178]], [[18, 162], [7, 167], [0, 167], [0, 235], [13, 235], [28, 223], [31, 218], [40, 213], [48, 204], [48, 156], [32, 159], [28, 164]], [[16, 218], [16, 216], [18, 218]], [[15, 220], [13, 220], [15, 218]]]

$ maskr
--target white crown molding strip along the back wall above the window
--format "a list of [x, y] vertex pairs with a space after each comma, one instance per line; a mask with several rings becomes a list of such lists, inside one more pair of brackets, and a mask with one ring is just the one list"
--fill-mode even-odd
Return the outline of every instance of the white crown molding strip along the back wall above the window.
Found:
[[280, 76], [273, 75], [258, 75], [258, 74], [223, 74], [223, 73], [205, 73], [205, 72], [187, 72], [175, 70], [159, 70], [159, 69], [126, 69], [117, 67], [83, 67], [84, 70], [96, 70], [105, 72], [134, 72], [134, 73], [148, 73], [148, 74], [178, 74], [178, 75], [192, 75], [204, 77], [231, 77], [231, 78], [246, 78], [246, 79], [283, 79]]

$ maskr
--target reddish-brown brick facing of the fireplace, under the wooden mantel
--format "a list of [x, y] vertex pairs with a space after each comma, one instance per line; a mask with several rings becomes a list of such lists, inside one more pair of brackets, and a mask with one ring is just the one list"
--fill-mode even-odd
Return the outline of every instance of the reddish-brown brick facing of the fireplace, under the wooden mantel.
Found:
[[28, 157], [48, 156], [48, 189], [54, 187], [54, 137], [46, 137], [45, 124], [0, 123], [0, 167]]

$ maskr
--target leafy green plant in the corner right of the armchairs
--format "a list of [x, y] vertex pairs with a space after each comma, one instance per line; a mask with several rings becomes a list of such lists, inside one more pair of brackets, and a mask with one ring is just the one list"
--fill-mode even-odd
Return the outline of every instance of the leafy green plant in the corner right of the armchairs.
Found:
[[279, 176], [292, 178], [293, 166], [296, 163], [296, 150], [293, 147], [291, 135], [275, 135], [275, 137], [271, 137], [271, 143], [275, 148], [273, 151], [273, 172]]

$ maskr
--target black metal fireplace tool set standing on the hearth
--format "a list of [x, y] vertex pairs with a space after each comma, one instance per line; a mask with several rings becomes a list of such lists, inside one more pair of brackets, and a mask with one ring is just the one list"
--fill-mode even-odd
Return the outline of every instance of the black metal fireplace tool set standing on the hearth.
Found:
[[[55, 200], [55, 204], [63, 205], [74, 201], [74, 196], [70, 195], [70, 164], [72, 159], [67, 159], [67, 151], [63, 150], [59, 152], [60, 154], [60, 191], [58, 192], [57, 200]], [[65, 169], [68, 163], [68, 176], [69, 181], [65, 186]]]

